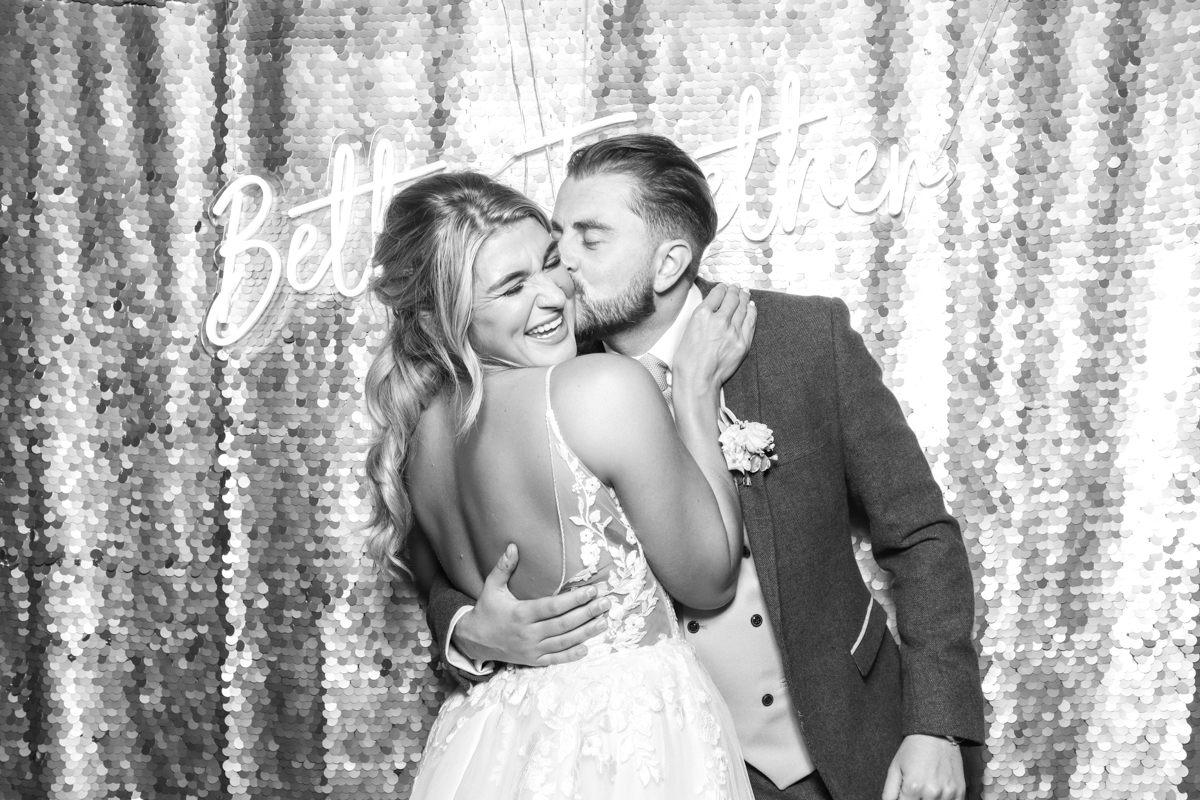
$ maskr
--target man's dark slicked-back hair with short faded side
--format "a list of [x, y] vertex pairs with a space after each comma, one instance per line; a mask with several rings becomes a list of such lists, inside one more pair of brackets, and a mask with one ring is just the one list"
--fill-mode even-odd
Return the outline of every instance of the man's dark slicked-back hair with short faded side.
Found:
[[662, 239], [686, 239], [691, 263], [684, 277], [700, 272], [704, 248], [716, 236], [716, 205], [704, 170], [671, 139], [630, 133], [580, 148], [566, 164], [576, 180], [593, 175], [628, 175], [637, 191], [631, 211]]

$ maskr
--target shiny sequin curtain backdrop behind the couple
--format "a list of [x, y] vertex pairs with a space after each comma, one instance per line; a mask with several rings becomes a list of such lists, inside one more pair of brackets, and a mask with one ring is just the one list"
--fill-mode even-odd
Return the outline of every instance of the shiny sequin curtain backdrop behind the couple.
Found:
[[[703, 156], [709, 275], [850, 303], [965, 524], [984, 794], [1182, 796], [1196, 36], [1180, 0], [0, 4], [0, 796], [406, 796], [446, 685], [360, 554], [371, 194], [286, 210], [372, 157], [550, 204], [564, 146], [522, 145], [593, 120]], [[217, 253], [239, 210], [274, 284]]]

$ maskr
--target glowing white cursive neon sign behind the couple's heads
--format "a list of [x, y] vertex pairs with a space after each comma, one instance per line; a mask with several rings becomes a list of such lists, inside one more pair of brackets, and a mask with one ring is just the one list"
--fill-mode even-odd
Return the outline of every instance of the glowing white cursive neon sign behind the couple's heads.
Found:
[[[776, 230], [785, 234], [796, 230], [799, 209], [809, 186], [815, 186], [821, 200], [834, 209], [842, 206], [854, 213], [874, 213], [884, 209], [892, 216], [899, 216], [905, 207], [906, 198], [911, 196], [911, 179], [916, 173], [917, 184], [923, 188], [938, 186], [948, 181], [949, 170], [935, 167], [929, 158], [922, 158], [916, 152], [908, 152], [901, 158], [900, 145], [890, 144], [887, 158], [887, 176], [874, 197], [863, 198], [858, 193], [859, 185], [880, 164], [880, 149], [875, 143], [859, 144], [842, 154], [808, 152], [797, 157], [800, 151], [800, 137], [804, 131], [828, 118], [823, 112], [804, 113], [800, 97], [800, 79], [794, 72], [782, 76], [779, 84], [781, 98], [781, 119], [778, 125], [762, 127], [762, 94], [754, 85], [742, 91], [738, 103], [737, 136], [726, 142], [719, 142], [696, 150], [692, 156], [702, 166], [718, 154], [734, 151], [733, 180], [716, 172], [708, 173], [709, 185], [716, 199], [720, 212], [719, 229], [724, 230], [733, 217], [739, 218], [740, 233], [750, 241], [763, 241]], [[566, 160], [572, 143], [581, 137], [620, 125], [636, 122], [632, 113], [611, 114], [582, 125], [563, 128], [550, 136], [524, 143], [514, 149], [511, 156], [496, 170], [499, 175], [511, 164], [548, 148], [562, 149], [558, 174], [552, 176], [557, 184], [566, 172]], [[750, 204], [755, 201], [749, 182], [755, 156], [761, 146], [773, 148], [776, 155], [774, 174], [772, 175], [772, 199], [766, 217], [762, 217]], [[846, 164], [842, 174], [838, 174], [836, 163]], [[355, 206], [362, 196], [370, 196], [370, 235], [373, 239], [379, 233], [388, 203], [403, 184], [418, 180], [425, 175], [446, 169], [450, 164], [437, 161], [412, 169], [396, 169], [396, 149], [386, 138], [378, 138], [370, 149], [370, 180], [359, 184], [359, 166], [355, 149], [352, 144], [338, 143], [329, 169], [329, 194], [318, 197], [300, 205], [287, 209], [283, 218], [276, 217], [277, 192], [272, 182], [260, 175], [241, 175], [230, 181], [216, 197], [210, 217], [223, 219], [224, 235], [217, 248], [223, 259], [224, 269], [217, 296], [204, 320], [204, 333], [208, 341], [217, 348], [226, 348], [241, 341], [266, 313], [281, 283], [298, 293], [308, 293], [322, 284], [326, 276], [332, 276], [334, 288], [344, 297], [361, 295], [371, 279], [370, 270], [362, 269], [361, 275], [353, 279], [343, 261], [344, 249], [355, 231]], [[722, 191], [727, 185], [734, 196], [732, 203]], [[257, 209], [254, 197], [257, 196]], [[329, 210], [328, 229], [322, 231], [305, 217]], [[290, 225], [289, 234], [283, 237], [269, 235], [266, 227]], [[361, 233], [361, 231], [360, 231]], [[287, 239], [286, 254], [281, 252], [280, 240]], [[316, 253], [325, 243], [324, 251]], [[258, 261], [266, 264], [266, 281], [256, 302], [235, 319], [234, 307], [239, 290], [246, 284], [251, 273], [247, 266], [257, 254]], [[307, 273], [307, 275], [305, 275]]]

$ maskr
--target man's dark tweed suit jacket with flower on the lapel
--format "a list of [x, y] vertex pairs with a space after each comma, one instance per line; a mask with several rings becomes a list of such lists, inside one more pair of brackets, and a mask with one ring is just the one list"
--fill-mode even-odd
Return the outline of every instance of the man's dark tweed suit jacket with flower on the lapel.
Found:
[[[905, 735], [984, 740], [966, 549], [846, 305], [751, 296], [754, 344], [725, 402], [774, 431], [779, 461], [739, 486], [746, 536], [817, 771], [836, 800], [878, 800]], [[852, 515], [893, 575], [899, 645], [858, 570]], [[470, 602], [434, 579], [427, 615], [439, 642]]]

